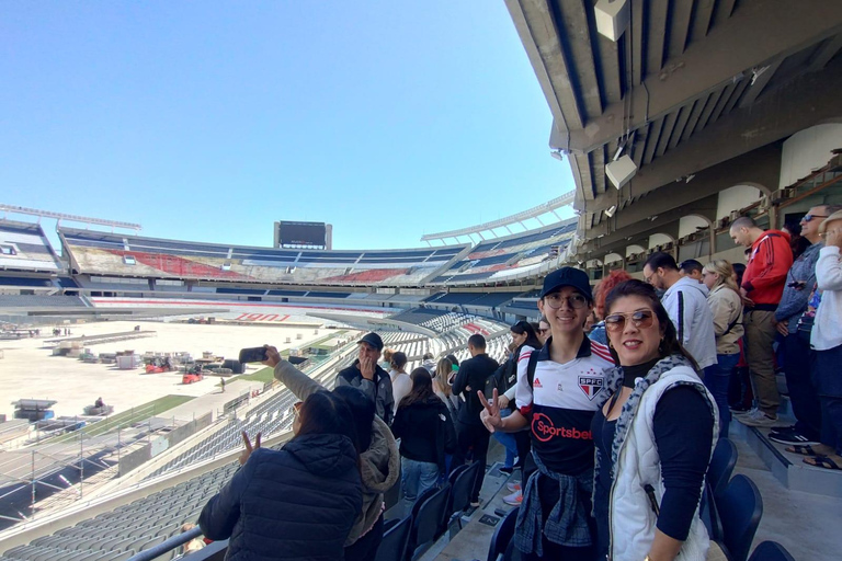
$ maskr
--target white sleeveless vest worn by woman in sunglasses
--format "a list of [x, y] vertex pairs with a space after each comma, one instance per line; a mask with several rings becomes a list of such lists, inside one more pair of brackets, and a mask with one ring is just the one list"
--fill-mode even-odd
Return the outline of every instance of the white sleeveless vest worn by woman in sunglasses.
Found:
[[[614, 470], [611, 504], [608, 505], [608, 523], [612, 536], [611, 559], [613, 561], [640, 561], [649, 553], [655, 539], [658, 518], [644, 488], [649, 484], [655, 489], [659, 505], [664, 492], [661, 479], [661, 460], [658, 456], [652, 428], [655, 409], [667, 390], [684, 383], [693, 385], [707, 398], [714, 415], [713, 446], [709, 450], [699, 450], [699, 454], [707, 451], [708, 460], [714, 454], [719, 434], [716, 402], [692, 368], [678, 365], [664, 371], [661, 378], [644, 392], [626, 439], [619, 448]], [[698, 505], [696, 505], [690, 534], [678, 559], [681, 561], [705, 561], [708, 548], [707, 529], [698, 516]]]

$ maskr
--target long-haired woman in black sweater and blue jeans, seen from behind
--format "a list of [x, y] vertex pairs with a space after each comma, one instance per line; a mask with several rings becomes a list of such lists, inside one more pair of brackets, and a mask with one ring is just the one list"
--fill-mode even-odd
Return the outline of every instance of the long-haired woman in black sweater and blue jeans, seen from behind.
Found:
[[412, 389], [398, 403], [391, 432], [400, 438], [400, 486], [403, 515], [445, 473], [447, 454], [456, 449], [456, 430], [447, 405], [433, 391], [430, 371], [420, 366], [410, 375]]

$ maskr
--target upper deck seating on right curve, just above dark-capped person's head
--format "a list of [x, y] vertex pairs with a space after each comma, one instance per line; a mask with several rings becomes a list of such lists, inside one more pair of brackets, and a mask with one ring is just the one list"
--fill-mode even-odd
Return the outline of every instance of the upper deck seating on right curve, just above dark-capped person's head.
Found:
[[460, 284], [497, 280], [528, 272], [551, 259], [550, 250], [561, 251], [576, 232], [576, 221], [516, 233], [478, 244], [463, 260], [436, 276], [434, 284]]

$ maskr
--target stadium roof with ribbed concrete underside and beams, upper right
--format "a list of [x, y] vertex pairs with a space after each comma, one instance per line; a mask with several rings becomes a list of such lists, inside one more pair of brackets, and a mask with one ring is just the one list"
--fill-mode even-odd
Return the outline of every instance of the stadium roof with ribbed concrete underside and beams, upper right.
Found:
[[[595, 3], [507, 0], [550, 147], [570, 154], [582, 239], [629, 236], [622, 215], [630, 225], [724, 188], [699, 174], [675, 202], [661, 187], [842, 116], [839, 2], [625, 0], [616, 42], [598, 33]], [[605, 165], [619, 153], [637, 173], [616, 190]]]

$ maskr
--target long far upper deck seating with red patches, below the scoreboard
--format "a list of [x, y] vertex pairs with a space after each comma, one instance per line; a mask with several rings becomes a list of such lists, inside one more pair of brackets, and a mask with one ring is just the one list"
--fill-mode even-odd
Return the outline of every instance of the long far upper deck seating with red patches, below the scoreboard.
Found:
[[[435, 275], [466, 245], [317, 251], [158, 240], [59, 229], [73, 268], [91, 275], [318, 285], [409, 285]], [[337, 297], [331, 295], [331, 297]]]

